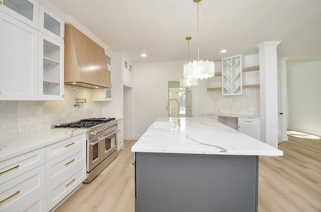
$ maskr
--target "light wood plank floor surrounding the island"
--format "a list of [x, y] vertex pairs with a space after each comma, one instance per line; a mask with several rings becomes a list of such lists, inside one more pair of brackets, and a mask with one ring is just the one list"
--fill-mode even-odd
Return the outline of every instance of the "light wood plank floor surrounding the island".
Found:
[[[135, 175], [130, 166], [134, 155], [130, 148], [135, 141], [125, 140], [118, 156], [55, 212], [134, 212]], [[289, 135], [279, 149], [283, 156], [259, 157], [258, 211], [320, 212], [321, 139]]]

